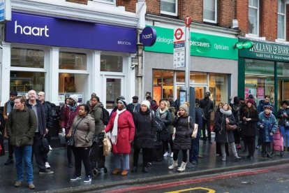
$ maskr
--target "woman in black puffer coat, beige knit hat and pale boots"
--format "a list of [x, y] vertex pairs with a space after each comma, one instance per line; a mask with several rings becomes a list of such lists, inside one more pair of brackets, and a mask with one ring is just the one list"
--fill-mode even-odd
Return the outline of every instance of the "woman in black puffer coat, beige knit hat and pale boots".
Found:
[[181, 166], [177, 171], [185, 171], [186, 163], [188, 161], [187, 150], [191, 149], [191, 135], [193, 134], [194, 122], [192, 117], [188, 115], [188, 103], [184, 103], [179, 107], [179, 112], [177, 113], [177, 117], [173, 120], [172, 125], [176, 127], [175, 133], [175, 141], [174, 141], [174, 156], [172, 165], [168, 167], [168, 169], [172, 170], [177, 167], [177, 157], [179, 155], [179, 150], [181, 150], [183, 154], [183, 159], [181, 162]]

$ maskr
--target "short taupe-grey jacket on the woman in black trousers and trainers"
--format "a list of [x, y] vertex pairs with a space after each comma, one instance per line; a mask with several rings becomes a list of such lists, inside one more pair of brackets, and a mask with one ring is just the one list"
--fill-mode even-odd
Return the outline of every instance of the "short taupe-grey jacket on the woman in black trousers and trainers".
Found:
[[[90, 114], [85, 117], [80, 117], [77, 115], [71, 127], [73, 134], [73, 129], [76, 129], [74, 134], [74, 146], [75, 147], [89, 147], [92, 145], [92, 138], [94, 136], [94, 118]], [[80, 123], [77, 125], [77, 123]], [[75, 128], [77, 126], [77, 128]]]

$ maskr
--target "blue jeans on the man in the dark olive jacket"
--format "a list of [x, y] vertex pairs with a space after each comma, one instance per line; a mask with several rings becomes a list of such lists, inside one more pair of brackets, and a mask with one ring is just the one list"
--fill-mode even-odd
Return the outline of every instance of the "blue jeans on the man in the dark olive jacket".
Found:
[[[33, 166], [31, 163], [32, 146], [14, 147], [16, 160], [17, 180], [23, 181], [23, 171], [25, 168], [27, 183], [33, 183]], [[23, 166], [24, 161], [24, 166]]]

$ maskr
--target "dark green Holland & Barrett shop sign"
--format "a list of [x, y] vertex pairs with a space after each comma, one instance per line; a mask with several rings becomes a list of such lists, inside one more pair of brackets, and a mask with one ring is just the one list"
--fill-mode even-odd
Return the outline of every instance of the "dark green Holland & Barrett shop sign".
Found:
[[[239, 41], [246, 41], [240, 39]], [[289, 62], [289, 46], [276, 43], [252, 41], [253, 48], [239, 50], [239, 57]]]

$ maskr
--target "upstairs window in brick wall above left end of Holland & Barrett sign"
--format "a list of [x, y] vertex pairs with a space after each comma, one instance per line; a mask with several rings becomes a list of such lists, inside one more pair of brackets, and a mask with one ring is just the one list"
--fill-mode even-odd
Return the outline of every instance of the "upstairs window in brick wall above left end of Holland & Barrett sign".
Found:
[[249, 34], [259, 36], [259, 0], [249, 0]]

